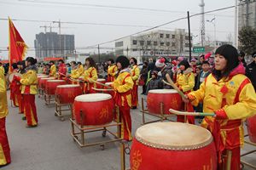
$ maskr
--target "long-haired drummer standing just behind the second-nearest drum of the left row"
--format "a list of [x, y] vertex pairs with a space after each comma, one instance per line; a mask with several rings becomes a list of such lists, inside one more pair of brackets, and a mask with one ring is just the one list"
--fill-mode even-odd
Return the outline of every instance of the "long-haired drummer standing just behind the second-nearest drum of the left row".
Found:
[[85, 59], [85, 67], [84, 71], [84, 94], [93, 94], [96, 88], [96, 80], [98, 78], [97, 75], [97, 65], [95, 61], [89, 57]]

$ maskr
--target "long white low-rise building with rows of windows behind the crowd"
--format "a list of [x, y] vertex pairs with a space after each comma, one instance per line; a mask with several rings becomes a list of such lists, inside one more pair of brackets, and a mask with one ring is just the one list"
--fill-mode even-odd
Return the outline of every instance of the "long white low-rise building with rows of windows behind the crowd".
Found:
[[148, 57], [189, 56], [189, 32], [159, 30], [125, 37], [115, 42], [115, 54], [136, 57], [139, 61]]

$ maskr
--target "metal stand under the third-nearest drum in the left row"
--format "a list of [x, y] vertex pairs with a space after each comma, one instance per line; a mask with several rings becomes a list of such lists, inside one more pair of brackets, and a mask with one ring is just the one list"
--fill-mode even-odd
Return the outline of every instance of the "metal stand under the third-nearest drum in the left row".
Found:
[[[63, 109], [62, 107], [67, 106], [68, 109]], [[60, 102], [60, 95], [55, 95], [55, 116], [58, 116], [61, 122], [65, 121], [64, 116], [70, 117], [72, 114], [73, 106], [72, 104], [61, 104]], [[62, 111], [70, 111], [68, 115], [62, 115]]]

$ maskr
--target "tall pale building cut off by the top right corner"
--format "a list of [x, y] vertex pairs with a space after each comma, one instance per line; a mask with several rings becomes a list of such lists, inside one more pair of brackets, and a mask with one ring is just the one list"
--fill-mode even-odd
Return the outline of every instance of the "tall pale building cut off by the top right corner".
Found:
[[244, 26], [256, 28], [256, 1], [240, 0], [238, 6], [238, 31]]

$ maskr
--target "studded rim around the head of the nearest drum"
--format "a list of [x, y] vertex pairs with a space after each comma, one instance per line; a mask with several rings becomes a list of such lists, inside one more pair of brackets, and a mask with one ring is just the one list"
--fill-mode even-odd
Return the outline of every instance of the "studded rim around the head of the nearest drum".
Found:
[[[157, 123], [181, 123], [181, 122], [157, 122]], [[150, 123], [150, 124], [152, 124], [152, 123]], [[150, 124], [148, 124], [148, 125], [150, 125]], [[192, 124], [189, 124], [189, 125], [196, 126], [196, 125], [192, 125]], [[144, 126], [147, 126], [147, 125], [144, 125]], [[201, 129], [205, 129], [205, 128], [199, 127], [199, 126], [196, 126], [196, 127], [201, 128]], [[141, 127], [138, 127], [137, 130], [139, 128], [141, 128]], [[211, 144], [212, 141], [213, 141], [212, 134], [209, 131], [207, 131], [207, 129], [205, 129], [205, 130], [206, 130], [207, 133], [209, 133], [209, 138], [205, 139], [205, 141], [201, 142], [201, 144], [191, 144], [191, 145], [182, 145], [182, 146], [166, 145], [166, 144], [155, 144], [154, 142], [150, 142], [147, 139], [143, 139], [143, 138], [139, 137], [138, 134], [137, 134], [137, 131], [135, 133], [135, 138], [137, 139], [138, 142], [140, 142], [142, 144], [145, 144], [148, 147], [152, 147], [152, 148], [155, 148], [155, 149], [158, 149], [158, 150], [198, 150], [198, 149], [201, 149], [203, 147], [206, 147], [207, 145]]]

